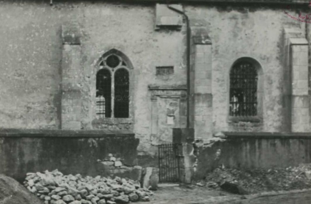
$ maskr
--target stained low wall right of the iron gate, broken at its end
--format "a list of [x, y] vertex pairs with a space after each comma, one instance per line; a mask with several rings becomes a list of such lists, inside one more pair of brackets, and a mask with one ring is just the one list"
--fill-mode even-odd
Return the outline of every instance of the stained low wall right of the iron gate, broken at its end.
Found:
[[311, 133], [223, 132], [210, 143], [196, 143], [197, 178], [217, 166], [270, 168], [311, 162]]

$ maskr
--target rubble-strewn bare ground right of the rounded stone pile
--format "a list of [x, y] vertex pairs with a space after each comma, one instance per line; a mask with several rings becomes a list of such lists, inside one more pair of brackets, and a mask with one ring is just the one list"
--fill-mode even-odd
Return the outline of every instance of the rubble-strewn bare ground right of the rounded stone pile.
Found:
[[[159, 187], [150, 202], [137, 204], [197, 204], [197, 203], [311, 203], [311, 179], [306, 172], [311, 164], [270, 169], [228, 169], [219, 167], [191, 185]], [[223, 191], [225, 181], [239, 184], [250, 195], [241, 196]], [[199, 185], [197, 185], [199, 184]], [[306, 190], [307, 189], [307, 190]]]

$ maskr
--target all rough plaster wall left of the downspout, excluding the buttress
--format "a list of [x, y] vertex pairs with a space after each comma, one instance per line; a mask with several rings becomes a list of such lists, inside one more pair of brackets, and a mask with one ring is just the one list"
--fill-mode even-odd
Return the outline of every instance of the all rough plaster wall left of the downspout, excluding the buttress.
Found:
[[[95, 63], [111, 48], [123, 52], [134, 69], [134, 132], [139, 150], [148, 151], [151, 99], [148, 84], [186, 84], [185, 43], [181, 31], [154, 31], [154, 6], [110, 3], [0, 2], [0, 120], [5, 128], [59, 125], [60, 27], [80, 24], [82, 127], [92, 129]], [[174, 79], [156, 79], [156, 66], [174, 66]]]

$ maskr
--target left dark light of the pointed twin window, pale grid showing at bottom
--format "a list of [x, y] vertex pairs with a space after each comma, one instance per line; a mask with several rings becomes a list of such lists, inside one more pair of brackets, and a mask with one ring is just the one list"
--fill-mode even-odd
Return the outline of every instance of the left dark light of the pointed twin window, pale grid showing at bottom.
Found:
[[96, 75], [96, 107], [97, 115], [111, 117], [111, 74], [107, 69], [101, 69]]

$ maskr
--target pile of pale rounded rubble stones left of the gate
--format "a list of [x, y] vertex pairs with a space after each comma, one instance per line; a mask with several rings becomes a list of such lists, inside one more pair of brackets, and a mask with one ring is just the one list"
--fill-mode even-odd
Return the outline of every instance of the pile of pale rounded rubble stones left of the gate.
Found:
[[45, 204], [115, 204], [150, 201], [139, 181], [115, 177], [63, 175], [58, 170], [27, 173], [25, 187]]

